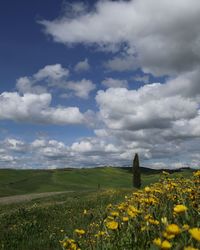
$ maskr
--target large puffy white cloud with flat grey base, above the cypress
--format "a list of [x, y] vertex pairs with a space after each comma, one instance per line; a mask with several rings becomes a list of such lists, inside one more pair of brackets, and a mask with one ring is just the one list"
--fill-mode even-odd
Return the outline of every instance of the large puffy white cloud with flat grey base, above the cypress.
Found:
[[152, 84], [139, 90], [111, 88], [99, 91], [96, 101], [106, 126], [128, 130], [166, 128], [172, 121], [197, 115], [198, 104], [195, 101], [178, 95], [160, 98], [154, 94], [156, 87]]

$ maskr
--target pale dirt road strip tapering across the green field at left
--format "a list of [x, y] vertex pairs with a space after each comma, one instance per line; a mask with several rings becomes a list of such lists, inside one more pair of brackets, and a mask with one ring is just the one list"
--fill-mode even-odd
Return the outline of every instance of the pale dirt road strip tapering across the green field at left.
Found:
[[57, 194], [64, 194], [70, 193], [73, 191], [62, 191], [62, 192], [46, 192], [46, 193], [38, 193], [38, 194], [23, 194], [23, 195], [14, 195], [14, 196], [7, 196], [7, 197], [0, 197], [0, 205], [1, 204], [11, 204], [11, 203], [18, 203], [23, 201], [31, 201], [37, 198], [48, 197]]

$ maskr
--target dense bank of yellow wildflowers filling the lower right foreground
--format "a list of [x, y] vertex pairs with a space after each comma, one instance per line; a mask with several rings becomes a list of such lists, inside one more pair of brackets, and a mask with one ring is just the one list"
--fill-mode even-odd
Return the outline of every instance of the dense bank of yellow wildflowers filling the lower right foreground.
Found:
[[[192, 178], [170, 178], [134, 191], [63, 249], [200, 249], [200, 171]], [[92, 230], [91, 230], [92, 228]], [[81, 236], [81, 237], [80, 237]], [[69, 247], [70, 245], [70, 247]]]

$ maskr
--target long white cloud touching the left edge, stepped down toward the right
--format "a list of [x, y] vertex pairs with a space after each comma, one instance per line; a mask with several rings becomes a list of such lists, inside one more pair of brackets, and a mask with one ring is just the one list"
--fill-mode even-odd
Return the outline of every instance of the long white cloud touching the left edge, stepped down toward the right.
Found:
[[0, 119], [49, 124], [81, 124], [84, 115], [77, 107], [51, 107], [51, 94], [3, 92], [0, 95]]

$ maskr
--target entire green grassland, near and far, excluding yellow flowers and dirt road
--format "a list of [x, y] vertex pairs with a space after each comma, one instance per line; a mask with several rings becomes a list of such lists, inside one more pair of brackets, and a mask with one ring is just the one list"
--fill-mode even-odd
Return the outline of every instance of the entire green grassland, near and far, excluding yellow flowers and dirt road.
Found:
[[[191, 171], [183, 171], [171, 176], [190, 175]], [[2, 170], [0, 176], [2, 196], [74, 190], [31, 202], [1, 205], [0, 249], [4, 250], [62, 249], [59, 240], [66, 234], [73, 237], [74, 229], [91, 227], [102, 219], [108, 204], [117, 204], [133, 192], [130, 171], [120, 168]], [[159, 173], [143, 174], [143, 186], [156, 182], [159, 176]]]

